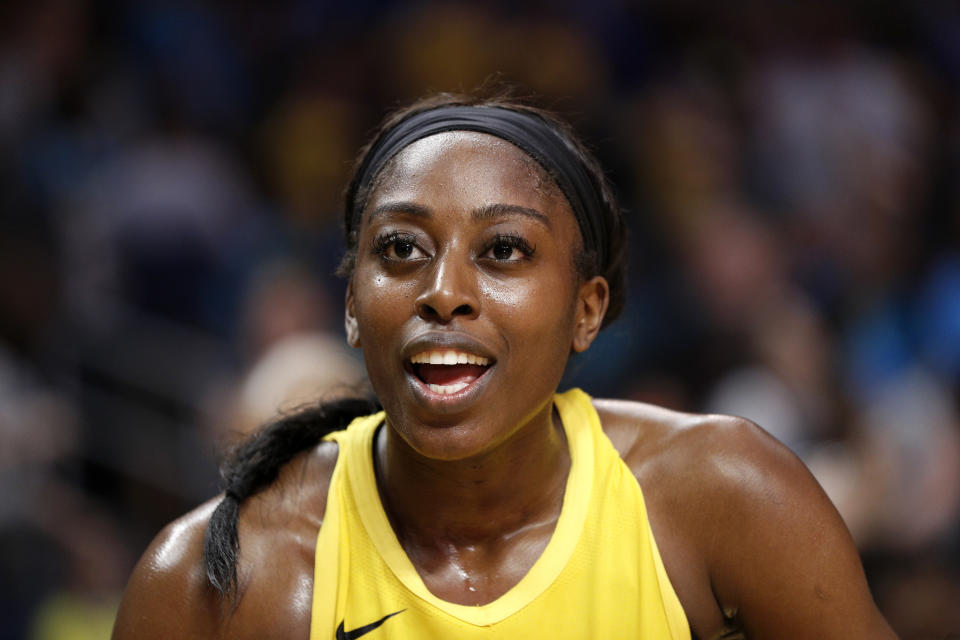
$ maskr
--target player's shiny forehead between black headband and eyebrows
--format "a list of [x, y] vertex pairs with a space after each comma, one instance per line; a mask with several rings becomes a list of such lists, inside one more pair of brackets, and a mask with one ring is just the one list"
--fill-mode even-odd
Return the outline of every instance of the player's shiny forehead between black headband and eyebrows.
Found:
[[533, 158], [505, 140], [470, 131], [438, 133], [401, 150], [377, 180], [366, 208], [384, 200], [428, 200], [437, 207], [510, 203], [573, 216]]

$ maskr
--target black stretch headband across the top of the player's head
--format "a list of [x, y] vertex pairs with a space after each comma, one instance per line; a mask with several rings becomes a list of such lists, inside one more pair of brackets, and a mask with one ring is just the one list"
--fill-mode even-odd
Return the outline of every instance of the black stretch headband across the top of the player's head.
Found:
[[[579, 157], [543, 118], [502, 107], [447, 106], [421, 111], [387, 131], [370, 148], [360, 166], [357, 185], [362, 192], [390, 158], [407, 145], [444, 131], [476, 131], [496, 136], [519, 147], [556, 181], [580, 226], [583, 248], [595, 252], [598, 265], [607, 264], [607, 218], [603, 199]], [[361, 211], [353, 211], [354, 229]]]

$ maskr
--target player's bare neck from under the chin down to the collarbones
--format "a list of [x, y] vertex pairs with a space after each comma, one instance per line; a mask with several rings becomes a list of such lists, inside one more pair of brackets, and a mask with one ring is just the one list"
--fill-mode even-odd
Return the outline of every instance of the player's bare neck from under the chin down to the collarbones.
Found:
[[570, 454], [552, 402], [488, 452], [432, 460], [391, 429], [377, 436], [377, 478], [404, 547], [495, 547], [560, 513]]

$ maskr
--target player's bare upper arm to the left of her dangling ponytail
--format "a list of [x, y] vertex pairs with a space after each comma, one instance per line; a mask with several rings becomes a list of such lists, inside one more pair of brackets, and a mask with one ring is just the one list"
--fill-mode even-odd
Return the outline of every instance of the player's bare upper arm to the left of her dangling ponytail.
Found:
[[206, 582], [202, 546], [214, 504], [168, 525], [140, 558], [113, 628], [113, 640], [217, 637], [219, 600]]

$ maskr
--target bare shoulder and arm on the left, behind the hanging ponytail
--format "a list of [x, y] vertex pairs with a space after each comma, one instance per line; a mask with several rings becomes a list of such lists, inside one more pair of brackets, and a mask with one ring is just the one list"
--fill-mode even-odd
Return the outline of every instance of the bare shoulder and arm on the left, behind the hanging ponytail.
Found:
[[336, 444], [323, 443], [241, 505], [235, 605], [210, 586], [203, 564], [221, 497], [167, 525], [133, 571], [113, 638], [307, 637], [313, 552], [336, 460]]

